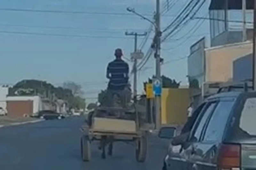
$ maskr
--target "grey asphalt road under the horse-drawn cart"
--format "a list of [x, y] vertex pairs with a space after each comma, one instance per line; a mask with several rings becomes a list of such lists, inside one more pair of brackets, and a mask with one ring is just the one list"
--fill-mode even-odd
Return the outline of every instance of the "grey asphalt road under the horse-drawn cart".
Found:
[[113, 156], [100, 158], [98, 143], [92, 144], [91, 162], [80, 156], [79, 127], [83, 117], [49, 120], [0, 129], [0, 167], [4, 170], [157, 170], [162, 168], [169, 141], [149, 137], [145, 163], [135, 160], [135, 146], [114, 143]]

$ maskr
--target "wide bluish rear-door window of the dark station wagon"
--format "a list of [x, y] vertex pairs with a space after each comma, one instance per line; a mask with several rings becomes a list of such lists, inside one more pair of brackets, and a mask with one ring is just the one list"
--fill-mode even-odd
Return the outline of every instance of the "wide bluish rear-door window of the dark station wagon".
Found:
[[205, 131], [204, 141], [221, 140], [233, 104], [234, 101], [219, 102]]

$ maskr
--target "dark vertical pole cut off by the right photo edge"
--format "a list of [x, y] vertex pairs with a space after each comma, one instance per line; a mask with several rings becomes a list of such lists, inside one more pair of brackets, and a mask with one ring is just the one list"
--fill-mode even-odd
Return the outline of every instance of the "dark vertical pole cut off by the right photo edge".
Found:
[[253, 56], [252, 56], [252, 87], [255, 90], [256, 85], [256, 67], [255, 67], [255, 58], [256, 58], [256, 0], [254, 0], [254, 10], [253, 10]]

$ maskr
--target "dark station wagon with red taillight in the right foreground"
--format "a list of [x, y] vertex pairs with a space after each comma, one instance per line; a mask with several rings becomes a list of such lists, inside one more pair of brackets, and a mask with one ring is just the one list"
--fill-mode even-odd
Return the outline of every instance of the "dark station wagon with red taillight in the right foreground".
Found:
[[256, 92], [219, 93], [196, 111], [187, 137], [175, 137], [175, 128], [160, 129], [159, 137], [176, 142], [169, 146], [163, 170], [256, 169]]

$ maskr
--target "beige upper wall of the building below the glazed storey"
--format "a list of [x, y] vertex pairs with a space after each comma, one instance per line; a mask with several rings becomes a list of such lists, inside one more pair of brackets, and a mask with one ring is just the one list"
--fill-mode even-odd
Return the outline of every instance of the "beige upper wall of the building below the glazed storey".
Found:
[[206, 81], [226, 82], [233, 78], [233, 61], [252, 53], [252, 42], [228, 44], [205, 50]]

